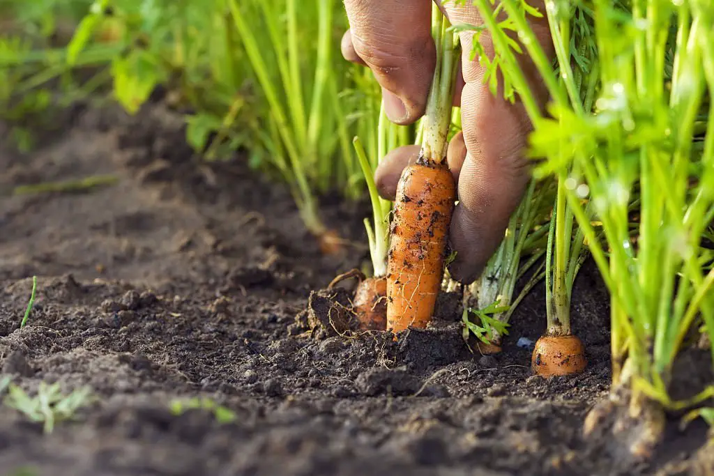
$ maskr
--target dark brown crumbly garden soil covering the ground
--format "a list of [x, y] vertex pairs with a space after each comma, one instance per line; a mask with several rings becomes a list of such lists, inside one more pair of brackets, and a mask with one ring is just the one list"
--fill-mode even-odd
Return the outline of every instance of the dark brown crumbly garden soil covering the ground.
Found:
[[[608, 296], [592, 264], [573, 293], [583, 375], [531, 375], [518, 340], [543, 331], [542, 285], [495, 357], [463, 343], [454, 294], [428, 330], [344, 335], [319, 324], [350, 294], [321, 289], [368, 257], [368, 203], [323, 198], [350, 240], [326, 257], [285, 187], [241, 154], [202, 162], [161, 103], [58, 121], [33, 153], [0, 151], [0, 365], [29, 393], [88, 385], [94, 399], [49, 434], [3, 407], [0, 475], [714, 474], [700, 422], [673, 421], [640, 465], [583, 438], [610, 380]], [[116, 183], [11, 193], [99, 174]], [[193, 397], [235, 418], [172, 406]]]

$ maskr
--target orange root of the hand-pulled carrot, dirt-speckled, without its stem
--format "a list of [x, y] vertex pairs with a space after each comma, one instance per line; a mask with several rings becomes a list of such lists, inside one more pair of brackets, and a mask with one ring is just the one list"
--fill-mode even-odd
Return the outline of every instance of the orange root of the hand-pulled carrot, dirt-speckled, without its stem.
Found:
[[431, 322], [441, 288], [456, 185], [445, 164], [416, 163], [397, 188], [387, 269], [387, 328]]

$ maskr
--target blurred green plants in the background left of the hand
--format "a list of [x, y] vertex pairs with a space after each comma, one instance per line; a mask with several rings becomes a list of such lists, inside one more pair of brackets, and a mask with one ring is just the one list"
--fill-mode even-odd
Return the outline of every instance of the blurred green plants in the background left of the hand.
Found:
[[323, 250], [341, 248], [316, 195], [366, 197], [352, 138], [376, 161], [381, 97], [341, 58], [340, 1], [6, 0], [0, 25], [0, 118], [21, 150], [51, 108], [109, 98], [136, 114], [161, 88], [198, 153], [241, 150], [288, 184]]

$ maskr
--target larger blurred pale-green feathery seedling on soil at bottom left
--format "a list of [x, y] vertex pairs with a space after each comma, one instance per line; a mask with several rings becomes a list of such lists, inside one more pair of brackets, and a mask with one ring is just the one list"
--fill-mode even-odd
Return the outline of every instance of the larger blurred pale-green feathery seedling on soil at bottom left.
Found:
[[81, 407], [91, 402], [91, 389], [81, 388], [64, 395], [59, 383], [40, 382], [37, 395], [30, 397], [22, 388], [10, 384], [5, 405], [21, 412], [33, 422], [43, 423], [44, 432], [51, 433], [56, 423], [71, 420]]

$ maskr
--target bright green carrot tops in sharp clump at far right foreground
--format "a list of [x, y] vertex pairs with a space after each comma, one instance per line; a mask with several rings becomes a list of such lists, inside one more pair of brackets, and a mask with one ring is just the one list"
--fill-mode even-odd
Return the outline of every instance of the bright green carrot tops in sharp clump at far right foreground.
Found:
[[[710, 259], [703, 237], [714, 213], [714, 11], [703, 0], [574, 2], [593, 21], [588, 29], [583, 17], [575, 33], [590, 36], [587, 48], [597, 46], [593, 61], [576, 59], [574, 74], [573, 9], [545, 2], [556, 69], [518, 2], [503, 0], [548, 86], [544, 116], [486, 0], [475, 3], [499, 71], [534, 123], [536, 172], [558, 177], [610, 289], [613, 380], [671, 407], [667, 387], [685, 335], [698, 322], [714, 335], [714, 272], [701, 265]], [[586, 56], [579, 45], [578, 55]], [[563, 236], [556, 231], [555, 239]]]

